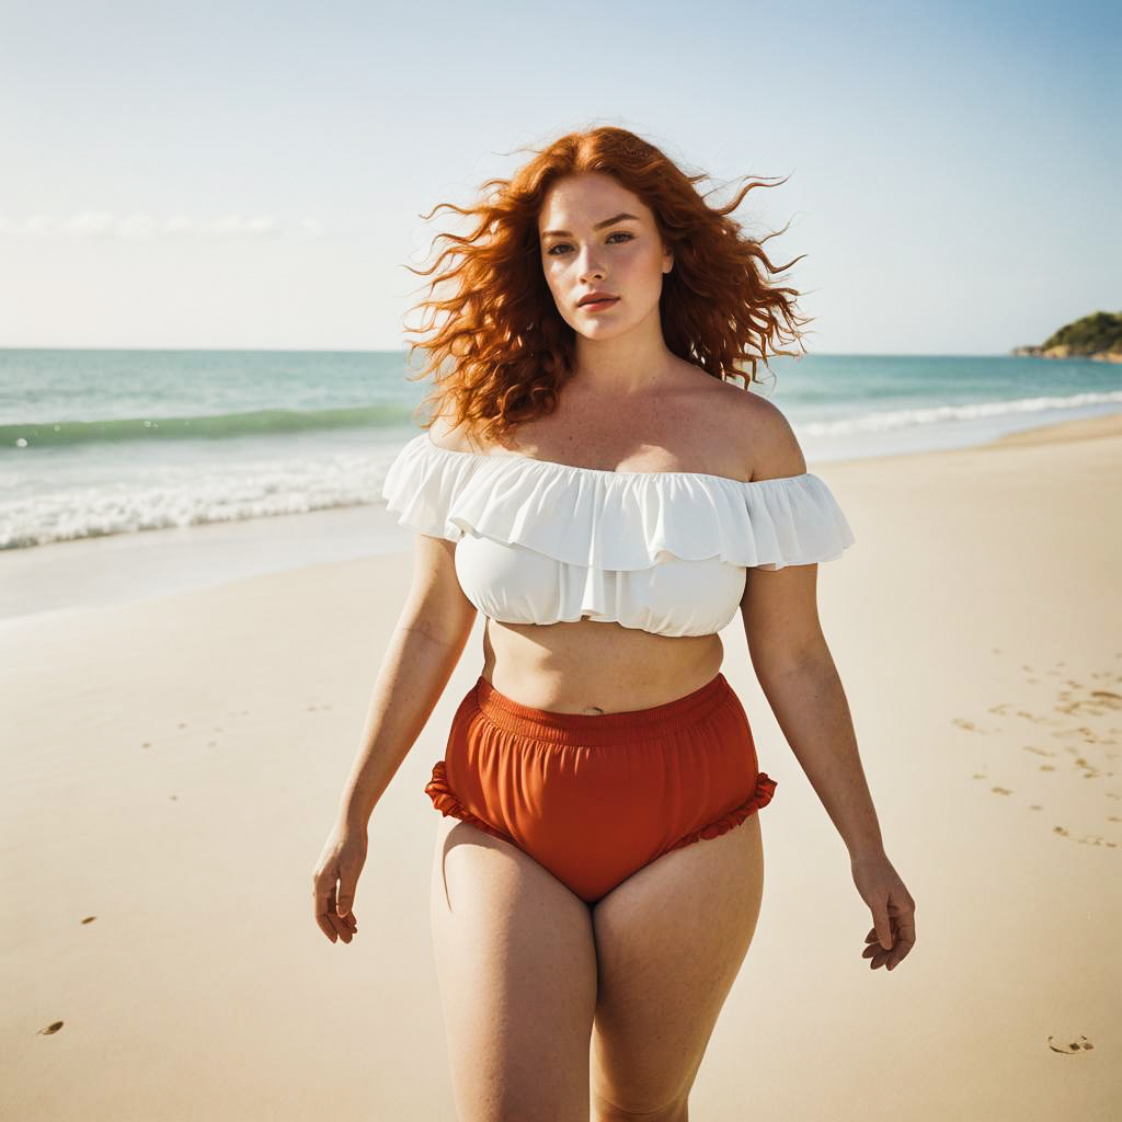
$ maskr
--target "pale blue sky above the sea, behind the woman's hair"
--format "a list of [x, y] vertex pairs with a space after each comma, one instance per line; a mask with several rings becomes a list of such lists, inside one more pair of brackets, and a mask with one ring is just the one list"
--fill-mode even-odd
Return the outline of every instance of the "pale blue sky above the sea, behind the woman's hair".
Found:
[[725, 201], [833, 353], [1122, 310], [1122, 6], [0, 0], [0, 347], [397, 349], [432, 237], [565, 131]]

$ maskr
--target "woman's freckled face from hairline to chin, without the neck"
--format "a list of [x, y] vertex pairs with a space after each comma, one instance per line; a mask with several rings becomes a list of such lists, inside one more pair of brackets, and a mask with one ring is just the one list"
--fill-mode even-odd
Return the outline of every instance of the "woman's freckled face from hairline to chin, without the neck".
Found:
[[[673, 265], [654, 215], [610, 175], [586, 172], [558, 180], [537, 217], [542, 268], [562, 319], [589, 339], [609, 339], [654, 310]], [[609, 304], [581, 306], [590, 293]]]

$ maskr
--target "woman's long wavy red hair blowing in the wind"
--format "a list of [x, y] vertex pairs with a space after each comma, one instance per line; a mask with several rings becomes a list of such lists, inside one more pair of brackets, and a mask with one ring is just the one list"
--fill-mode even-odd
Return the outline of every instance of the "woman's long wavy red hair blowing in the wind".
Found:
[[[787, 227], [755, 239], [729, 217], [754, 187], [778, 183], [749, 180], [732, 202], [715, 208], [693, 186], [705, 175], [687, 175], [634, 132], [613, 127], [570, 132], [536, 150], [509, 180], [486, 181], [475, 206], [440, 203], [421, 215], [427, 220], [448, 208], [476, 221], [466, 236], [438, 234], [450, 245], [430, 268], [406, 266], [419, 276], [441, 270], [429, 284], [431, 296], [439, 285], [448, 289], [443, 298], [414, 305], [433, 313], [427, 325], [406, 325], [431, 335], [410, 344], [411, 366], [417, 349], [429, 357], [410, 380], [433, 375], [425, 398], [433, 407], [422, 427], [447, 414], [453, 427], [466, 423], [469, 432], [503, 443], [517, 425], [557, 408], [561, 387], [573, 374], [576, 332], [558, 312], [545, 280], [537, 219], [550, 187], [582, 172], [611, 175], [637, 195], [673, 250], [674, 267], [663, 276], [659, 301], [663, 340], [672, 353], [723, 381], [742, 377], [745, 389], [762, 380], [756, 364], [767, 365], [769, 348], [773, 356], [797, 357], [775, 343], [797, 341], [801, 348], [799, 329], [809, 320], [794, 311], [799, 293], [770, 279], [800, 258], [775, 266], [763, 248]], [[482, 195], [488, 188], [489, 196]], [[440, 313], [444, 320], [438, 324]]]

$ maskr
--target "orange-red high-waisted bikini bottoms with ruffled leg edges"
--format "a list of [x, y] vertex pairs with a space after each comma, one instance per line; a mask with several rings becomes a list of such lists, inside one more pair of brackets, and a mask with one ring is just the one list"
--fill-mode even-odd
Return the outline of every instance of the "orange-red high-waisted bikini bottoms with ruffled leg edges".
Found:
[[480, 675], [425, 793], [530, 854], [586, 903], [671, 849], [765, 807], [747, 716], [724, 674], [627, 712], [533, 709]]

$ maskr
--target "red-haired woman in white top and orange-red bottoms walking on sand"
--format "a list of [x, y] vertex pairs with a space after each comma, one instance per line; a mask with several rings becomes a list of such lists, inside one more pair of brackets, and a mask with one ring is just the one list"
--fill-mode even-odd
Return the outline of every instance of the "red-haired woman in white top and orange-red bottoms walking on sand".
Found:
[[863, 957], [892, 969], [914, 941], [817, 616], [817, 562], [853, 534], [779, 410], [724, 380], [790, 353], [798, 294], [728, 218], [761, 184], [715, 210], [697, 178], [622, 129], [563, 137], [460, 211], [459, 295], [424, 305], [450, 313], [427, 349], [451, 373], [384, 488], [414, 582], [314, 896], [349, 942], [370, 813], [481, 611], [425, 788], [462, 1120], [687, 1118], [775, 789], [720, 673], [737, 608], [871, 909]]

